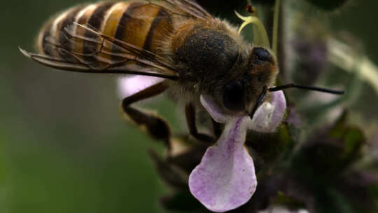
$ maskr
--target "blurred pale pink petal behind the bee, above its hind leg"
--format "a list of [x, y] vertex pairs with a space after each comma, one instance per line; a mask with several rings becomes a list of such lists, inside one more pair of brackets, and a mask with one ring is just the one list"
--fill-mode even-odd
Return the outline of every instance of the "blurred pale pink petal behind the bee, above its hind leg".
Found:
[[164, 78], [151, 76], [126, 76], [119, 78], [118, 95], [121, 99], [123, 99], [164, 80]]

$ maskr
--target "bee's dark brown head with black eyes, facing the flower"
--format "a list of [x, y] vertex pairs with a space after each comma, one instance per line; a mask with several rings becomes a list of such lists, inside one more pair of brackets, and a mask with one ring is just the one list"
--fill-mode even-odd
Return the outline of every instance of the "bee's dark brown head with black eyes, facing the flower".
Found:
[[241, 74], [223, 87], [223, 106], [237, 114], [251, 114], [265, 87], [274, 84], [278, 66], [269, 50], [254, 47]]

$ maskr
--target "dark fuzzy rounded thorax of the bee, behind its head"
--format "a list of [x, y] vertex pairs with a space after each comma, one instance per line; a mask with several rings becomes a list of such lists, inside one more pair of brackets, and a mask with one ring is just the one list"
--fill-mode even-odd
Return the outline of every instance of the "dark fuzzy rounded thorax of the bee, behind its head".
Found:
[[223, 76], [232, 69], [239, 57], [239, 46], [228, 34], [218, 29], [197, 26], [190, 26], [189, 30], [183, 32], [174, 36], [181, 38], [173, 39], [177, 61], [186, 67], [183, 72], [201, 78]]

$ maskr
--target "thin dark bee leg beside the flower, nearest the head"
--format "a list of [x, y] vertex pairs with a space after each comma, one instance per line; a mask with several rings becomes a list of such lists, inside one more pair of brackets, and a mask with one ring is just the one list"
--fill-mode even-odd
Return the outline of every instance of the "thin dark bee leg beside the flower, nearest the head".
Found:
[[216, 139], [206, 134], [198, 132], [197, 125], [195, 123], [195, 106], [192, 103], [186, 104], [185, 107], [186, 123], [188, 123], [188, 128], [190, 135], [193, 135], [196, 139], [202, 142], [214, 143]]

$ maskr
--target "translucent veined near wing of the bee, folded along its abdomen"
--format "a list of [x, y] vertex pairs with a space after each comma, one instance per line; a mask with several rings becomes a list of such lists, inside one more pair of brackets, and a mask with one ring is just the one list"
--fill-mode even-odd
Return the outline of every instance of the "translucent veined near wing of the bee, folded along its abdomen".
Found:
[[[87, 32], [85, 36], [76, 34], [78, 27]], [[137, 74], [144, 76], [158, 76], [176, 79], [179, 75], [174, 67], [163, 57], [148, 50], [106, 36], [89, 25], [74, 22], [62, 31], [67, 43], [56, 43], [54, 39], [46, 38], [50, 48], [54, 48], [59, 56], [21, 52], [27, 57], [45, 66], [68, 71], [82, 71], [94, 73]], [[80, 45], [85, 42], [85, 53], [76, 53], [67, 46]]]

